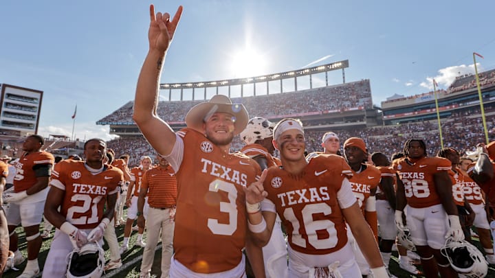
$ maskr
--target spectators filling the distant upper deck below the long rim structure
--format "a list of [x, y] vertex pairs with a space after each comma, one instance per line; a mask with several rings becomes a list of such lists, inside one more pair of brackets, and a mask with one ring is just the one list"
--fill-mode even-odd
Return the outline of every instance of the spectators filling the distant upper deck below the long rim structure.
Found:
[[[183, 122], [190, 108], [203, 101], [159, 102], [157, 113], [164, 121]], [[369, 80], [291, 93], [232, 97], [232, 102], [244, 104], [250, 115], [265, 115], [265, 117], [369, 109], [373, 105]], [[128, 102], [97, 123], [133, 123], [132, 113], [133, 102]]]

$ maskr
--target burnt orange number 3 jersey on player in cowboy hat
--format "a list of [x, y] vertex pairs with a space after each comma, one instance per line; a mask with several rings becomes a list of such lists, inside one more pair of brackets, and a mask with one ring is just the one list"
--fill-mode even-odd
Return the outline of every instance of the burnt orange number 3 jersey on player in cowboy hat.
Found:
[[261, 169], [241, 152], [228, 154], [201, 132], [184, 128], [177, 177], [175, 259], [197, 273], [230, 270], [241, 262], [247, 212], [244, 187]]

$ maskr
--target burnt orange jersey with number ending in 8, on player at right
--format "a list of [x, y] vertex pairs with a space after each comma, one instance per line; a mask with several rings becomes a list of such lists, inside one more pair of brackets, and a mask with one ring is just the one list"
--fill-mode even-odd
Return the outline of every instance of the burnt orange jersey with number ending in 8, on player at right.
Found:
[[416, 163], [410, 163], [406, 158], [395, 159], [393, 169], [404, 184], [408, 205], [422, 208], [441, 204], [433, 175], [440, 171], [449, 171], [451, 165], [443, 157], [423, 157]]

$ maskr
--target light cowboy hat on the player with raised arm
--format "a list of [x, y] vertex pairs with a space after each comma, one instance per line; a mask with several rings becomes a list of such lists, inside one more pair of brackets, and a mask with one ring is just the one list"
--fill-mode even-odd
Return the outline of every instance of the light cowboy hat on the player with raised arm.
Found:
[[243, 104], [232, 104], [226, 95], [214, 95], [210, 101], [192, 107], [186, 115], [186, 125], [203, 132], [203, 124], [213, 113], [228, 113], [234, 116], [234, 135], [238, 135], [248, 125], [249, 115]]

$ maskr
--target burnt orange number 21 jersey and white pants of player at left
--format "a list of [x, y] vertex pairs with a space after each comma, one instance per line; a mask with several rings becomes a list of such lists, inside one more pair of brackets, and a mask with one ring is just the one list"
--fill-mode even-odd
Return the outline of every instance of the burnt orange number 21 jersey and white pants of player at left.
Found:
[[[88, 170], [84, 161], [66, 159], [55, 165], [50, 186], [65, 192], [60, 209], [65, 220], [90, 233], [103, 219], [108, 196], [117, 194], [122, 183], [124, 176], [116, 167], [105, 164], [100, 172], [95, 172]], [[56, 229], [43, 274], [65, 277], [67, 255], [73, 250], [69, 235]]]

